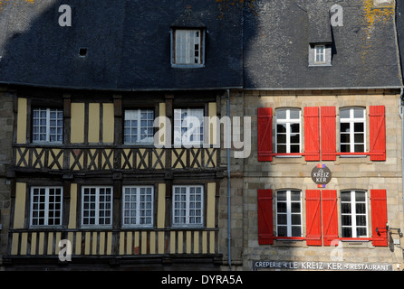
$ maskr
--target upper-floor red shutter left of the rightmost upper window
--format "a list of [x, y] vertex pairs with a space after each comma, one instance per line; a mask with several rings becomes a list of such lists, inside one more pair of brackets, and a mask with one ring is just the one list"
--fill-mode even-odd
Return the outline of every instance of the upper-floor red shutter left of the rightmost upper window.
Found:
[[322, 161], [335, 161], [335, 107], [322, 107]]

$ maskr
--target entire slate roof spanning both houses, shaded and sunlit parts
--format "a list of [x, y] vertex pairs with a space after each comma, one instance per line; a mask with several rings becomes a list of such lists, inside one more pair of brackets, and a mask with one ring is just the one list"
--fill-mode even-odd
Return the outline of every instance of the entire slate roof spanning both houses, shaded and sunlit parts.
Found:
[[[370, 3], [0, 0], [0, 83], [111, 90], [400, 87], [394, 9]], [[341, 27], [330, 23], [335, 4], [343, 7]], [[72, 27], [59, 26], [60, 5], [71, 5]], [[170, 28], [187, 25], [207, 29], [203, 68], [170, 65]], [[309, 44], [316, 42], [332, 44], [332, 66], [309, 67]]]

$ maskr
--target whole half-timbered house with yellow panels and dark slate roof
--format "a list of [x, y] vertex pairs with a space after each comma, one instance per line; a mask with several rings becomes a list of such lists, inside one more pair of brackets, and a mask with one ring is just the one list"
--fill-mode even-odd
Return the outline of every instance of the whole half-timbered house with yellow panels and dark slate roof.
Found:
[[217, 269], [223, 170], [203, 120], [242, 86], [242, 10], [61, 5], [1, 6], [1, 93], [14, 122], [3, 265]]

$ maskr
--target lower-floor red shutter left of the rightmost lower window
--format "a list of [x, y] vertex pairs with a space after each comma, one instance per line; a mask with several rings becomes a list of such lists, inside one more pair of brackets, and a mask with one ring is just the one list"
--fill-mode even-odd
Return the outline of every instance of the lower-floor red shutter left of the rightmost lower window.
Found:
[[338, 238], [337, 191], [334, 190], [322, 190], [322, 235], [324, 246], [331, 246], [332, 240]]

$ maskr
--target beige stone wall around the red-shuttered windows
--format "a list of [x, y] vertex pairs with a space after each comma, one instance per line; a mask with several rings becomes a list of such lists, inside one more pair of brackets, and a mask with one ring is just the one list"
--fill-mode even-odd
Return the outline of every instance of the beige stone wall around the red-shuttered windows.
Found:
[[[326, 189], [336, 190], [338, 197], [342, 190], [374, 189], [387, 190], [388, 219], [390, 228], [402, 227], [403, 203], [401, 181], [401, 120], [399, 118], [399, 95], [397, 91], [386, 90], [346, 90], [346, 91], [245, 91], [231, 97], [231, 116], [252, 117], [252, 152], [248, 158], [231, 159], [231, 210], [232, 210], [232, 259], [233, 265], [242, 261], [240, 268], [252, 269], [256, 260], [283, 261], [323, 261], [329, 262], [335, 247], [308, 247], [305, 241], [274, 240], [273, 246], [258, 244], [257, 228], [257, 190], [297, 189], [319, 190], [311, 179], [311, 171], [317, 163], [325, 163], [332, 171], [332, 182]], [[338, 114], [341, 107], [386, 107], [386, 148], [385, 162], [371, 162], [370, 156], [361, 158], [342, 158], [337, 156], [335, 162], [306, 162], [304, 157], [274, 157], [273, 162], [257, 160], [257, 108], [258, 107], [336, 107], [336, 138], [339, 144]], [[226, 99], [222, 99], [226, 108]], [[222, 115], [225, 108], [222, 108]], [[303, 119], [303, 118], [302, 118]], [[369, 119], [369, 117], [368, 117]], [[302, 133], [304, 122], [302, 121]], [[369, 123], [367, 124], [367, 151], [369, 151]], [[302, 135], [304, 148], [304, 135]], [[338, 149], [338, 145], [337, 145]], [[226, 163], [226, 151], [222, 151], [222, 163]], [[226, 174], [225, 174], [226, 175]], [[226, 182], [221, 183], [221, 206], [219, 212], [220, 251], [227, 250], [226, 233]], [[368, 193], [368, 199], [370, 193]], [[275, 203], [275, 202], [274, 202]], [[370, 202], [368, 202], [368, 207]], [[241, 207], [243, 209], [241, 209]], [[340, 203], [338, 205], [340, 210]], [[240, 211], [242, 210], [242, 211]], [[302, 201], [303, 237], [305, 236], [305, 206]], [[275, 212], [275, 210], [274, 210]], [[339, 211], [340, 213], [340, 211]], [[338, 215], [340, 218], [340, 215]], [[370, 219], [370, 217], [368, 217]], [[274, 219], [275, 220], [275, 219]], [[274, 222], [275, 224], [275, 222]], [[369, 232], [370, 232], [370, 224]], [[401, 228], [402, 229], [402, 228]], [[275, 230], [275, 226], [274, 226]], [[341, 224], [339, 224], [341, 236]], [[370, 234], [370, 233], [369, 233]], [[370, 234], [371, 235], [371, 234]], [[400, 244], [404, 239], [398, 238]], [[241, 241], [243, 239], [243, 241]], [[373, 247], [371, 242], [340, 242], [341, 260], [343, 262], [375, 262], [394, 264], [394, 269], [404, 269], [401, 245], [390, 247]], [[400, 267], [398, 267], [398, 265]]]

